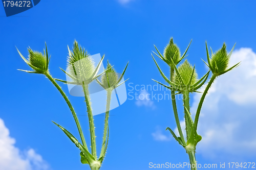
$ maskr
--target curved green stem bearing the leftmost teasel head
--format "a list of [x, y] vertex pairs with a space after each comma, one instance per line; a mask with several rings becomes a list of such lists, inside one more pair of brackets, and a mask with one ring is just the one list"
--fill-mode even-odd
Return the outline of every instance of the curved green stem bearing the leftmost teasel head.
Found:
[[53, 85], [59, 90], [59, 92], [61, 93], [61, 95], [63, 96], [63, 98], [65, 99], [65, 101], [67, 102], [70, 110], [71, 110], [71, 113], [75, 119], [75, 122], [76, 122], [76, 126], [77, 126], [77, 129], [78, 129], [78, 132], [80, 134], [80, 137], [81, 137], [81, 140], [82, 140], [82, 144], [83, 146], [88, 150], [87, 148], [87, 144], [86, 144], [86, 140], [84, 139], [84, 136], [83, 136], [83, 133], [82, 133], [82, 128], [80, 126], [80, 123], [79, 123], [79, 120], [77, 118], [77, 115], [75, 113], [75, 110], [73, 108], [73, 106], [71, 105], [67, 95], [63, 92], [63, 90], [60, 88], [60, 86], [55, 82], [55, 80], [51, 77], [51, 75], [47, 72], [45, 74], [45, 76], [53, 83]]

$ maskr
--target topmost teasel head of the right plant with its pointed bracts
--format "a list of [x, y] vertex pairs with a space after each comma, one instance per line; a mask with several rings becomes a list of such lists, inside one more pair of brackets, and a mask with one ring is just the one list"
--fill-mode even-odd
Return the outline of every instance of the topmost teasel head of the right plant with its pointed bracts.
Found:
[[[190, 41], [190, 43], [191, 43], [191, 41]], [[155, 52], [153, 52], [153, 53], [155, 55], [157, 55], [160, 59], [162, 59], [165, 63], [167, 63], [170, 67], [174, 67], [174, 65], [179, 64], [179, 62], [186, 57], [185, 55], [186, 55], [187, 50], [190, 46], [190, 43], [187, 46], [186, 51], [184, 52], [184, 54], [181, 56], [180, 55], [180, 49], [177, 46], [177, 44], [174, 43], [174, 40], [173, 40], [173, 37], [172, 37], [172, 38], [170, 38], [169, 43], [164, 48], [163, 55], [159, 52], [159, 50], [157, 49], [156, 46], [155, 46], [155, 48], [156, 48], [158, 54], [156, 54]]]

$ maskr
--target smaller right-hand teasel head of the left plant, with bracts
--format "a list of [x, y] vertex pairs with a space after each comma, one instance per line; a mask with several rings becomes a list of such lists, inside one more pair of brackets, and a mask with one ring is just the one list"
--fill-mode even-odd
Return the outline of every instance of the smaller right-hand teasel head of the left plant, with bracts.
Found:
[[127, 66], [128, 66], [128, 63], [126, 64], [121, 76], [119, 77], [116, 70], [113, 68], [113, 66], [108, 61], [108, 64], [107, 64], [106, 69], [104, 71], [104, 74], [101, 76], [101, 80], [99, 81], [98, 79], [96, 79], [96, 81], [104, 89], [113, 90], [113, 89], [115, 89], [116, 87], [120, 86], [121, 84], [123, 84], [124, 82], [126, 82], [128, 80], [127, 79], [124, 82], [122, 82], [121, 84], [119, 84], [121, 79], [123, 78], [123, 75], [124, 75], [124, 72], [125, 72]]

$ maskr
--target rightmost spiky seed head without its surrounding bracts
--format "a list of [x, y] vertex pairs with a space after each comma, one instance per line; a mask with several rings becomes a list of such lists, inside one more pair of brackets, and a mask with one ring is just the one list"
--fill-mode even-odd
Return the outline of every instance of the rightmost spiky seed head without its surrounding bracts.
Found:
[[226, 44], [223, 43], [222, 48], [211, 55], [210, 64], [212, 73], [217, 76], [221, 75], [227, 69], [229, 59], [230, 56], [227, 54]]

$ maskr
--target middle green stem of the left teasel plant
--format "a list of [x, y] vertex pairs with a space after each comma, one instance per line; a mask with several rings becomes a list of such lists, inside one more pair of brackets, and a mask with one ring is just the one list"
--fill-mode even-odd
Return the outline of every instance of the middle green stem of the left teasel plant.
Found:
[[91, 134], [91, 147], [92, 147], [92, 156], [97, 160], [97, 152], [96, 152], [96, 136], [95, 136], [95, 127], [93, 123], [93, 113], [89, 95], [88, 85], [82, 82], [84, 98], [86, 99], [87, 112], [89, 117], [89, 126], [90, 126], [90, 134]]

